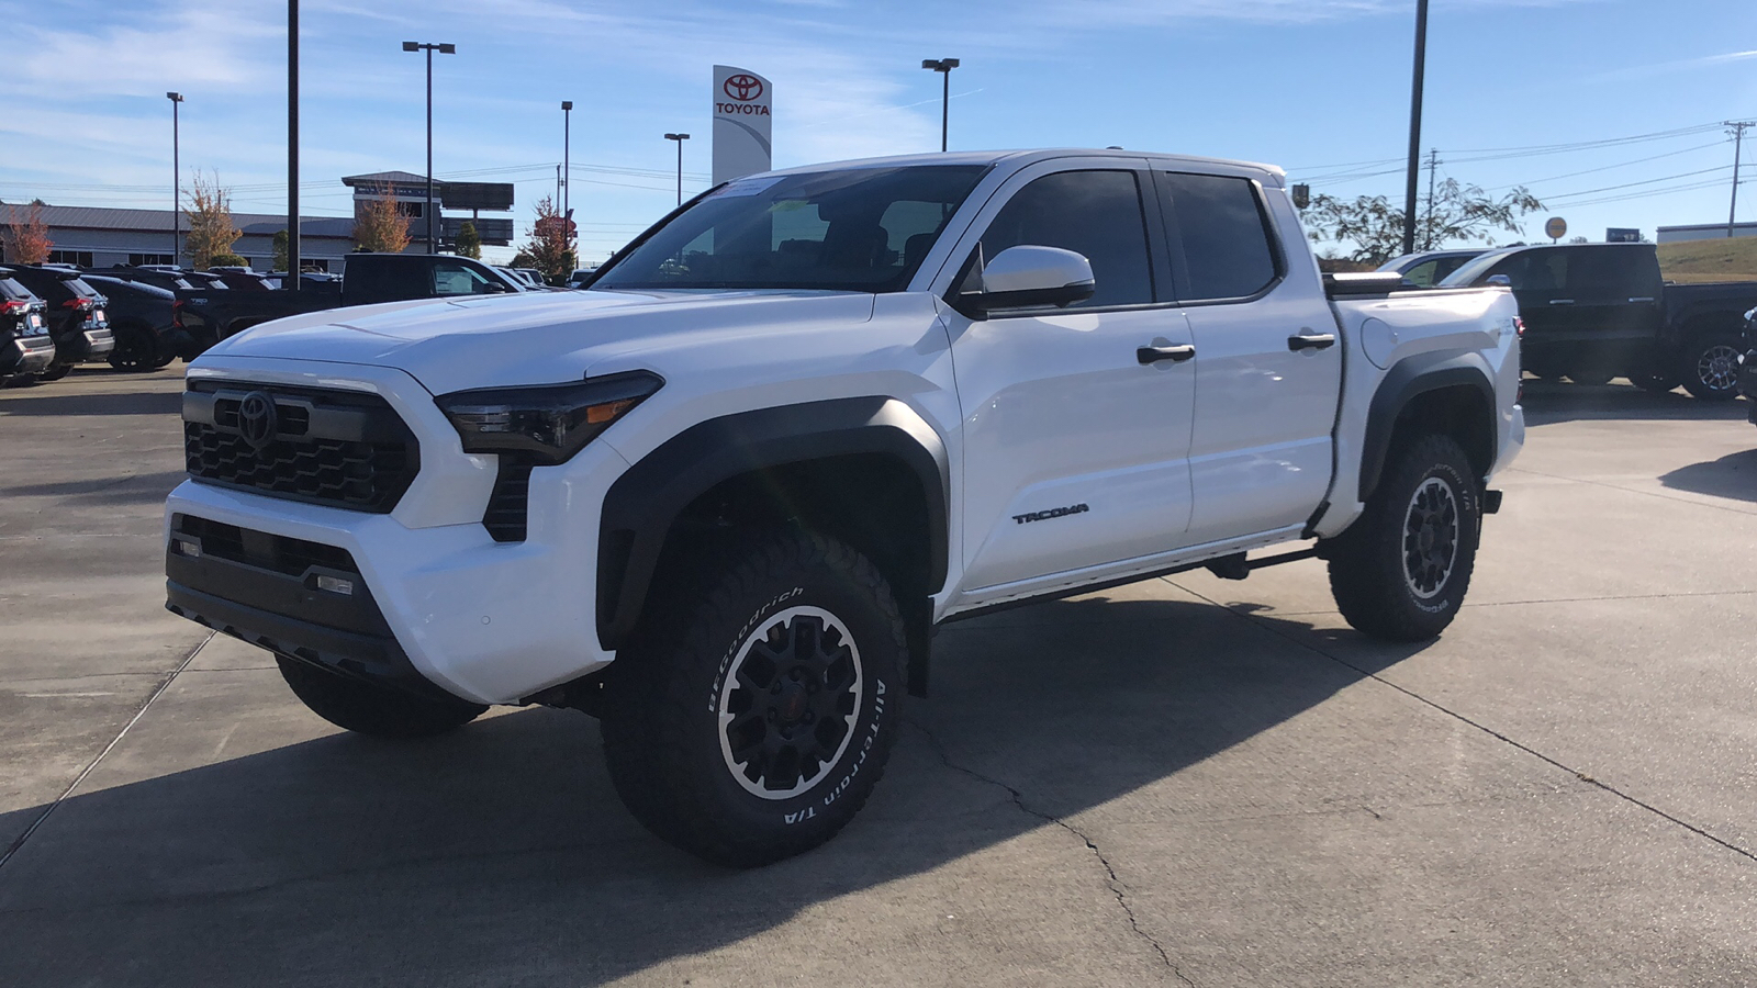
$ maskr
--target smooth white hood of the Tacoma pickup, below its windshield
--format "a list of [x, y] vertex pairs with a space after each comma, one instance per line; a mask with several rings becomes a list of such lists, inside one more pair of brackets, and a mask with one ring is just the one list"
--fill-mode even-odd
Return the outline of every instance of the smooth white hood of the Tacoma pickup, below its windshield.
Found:
[[[307, 313], [223, 339], [216, 357], [397, 367], [434, 394], [580, 380], [594, 362], [719, 338], [868, 322], [854, 292], [531, 292]], [[620, 362], [620, 360], [618, 360]]]

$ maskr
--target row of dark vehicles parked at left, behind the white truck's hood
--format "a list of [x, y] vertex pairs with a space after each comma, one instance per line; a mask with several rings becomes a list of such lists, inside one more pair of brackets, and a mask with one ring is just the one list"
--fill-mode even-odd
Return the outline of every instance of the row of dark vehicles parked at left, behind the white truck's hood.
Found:
[[[587, 272], [576, 272], [587, 274]], [[76, 364], [151, 371], [192, 360], [220, 339], [283, 315], [350, 304], [560, 290], [531, 269], [453, 255], [372, 255], [348, 260], [348, 278], [248, 267], [0, 265], [0, 383], [53, 381]]]

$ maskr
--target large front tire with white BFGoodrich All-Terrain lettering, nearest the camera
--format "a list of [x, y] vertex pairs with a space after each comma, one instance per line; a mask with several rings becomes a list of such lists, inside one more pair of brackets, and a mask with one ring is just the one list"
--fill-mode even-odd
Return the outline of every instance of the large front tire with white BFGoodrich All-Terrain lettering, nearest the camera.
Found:
[[835, 837], [901, 726], [908, 647], [884, 575], [780, 527], [661, 570], [655, 598], [604, 684], [604, 759], [629, 812], [734, 868]]

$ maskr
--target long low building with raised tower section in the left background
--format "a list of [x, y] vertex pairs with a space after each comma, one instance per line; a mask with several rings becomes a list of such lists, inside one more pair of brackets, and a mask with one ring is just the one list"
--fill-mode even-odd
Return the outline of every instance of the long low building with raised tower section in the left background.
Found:
[[[411, 172], [372, 172], [341, 179], [353, 192], [353, 216], [300, 216], [299, 258], [306, 269], [341, 272], [353, 251], [353, 223], [367, 202], [392, 199], [397, 213], [409, 218], [411, 253], [427, 250], [427, 178]], [[434, 183], [434, 211], [469, 209], [471, 216], [439, 216], [443, 244], [457, 237], [466, 222], [476, 223], [483, 244], [510, 244], [511, 216], [483, 218], [481, 211], [513, 207], [513, 186], [501, 183]], [[0, 206], [0, 223], [30, 214], [30, 206]], [[42, 206], [42, 223], [49, 230], [51, 264], [112, 267], [116, 264], [179, 264], [181, 237], [172, 241], [170, 209], [107, 209], [91, 206]], [[190, 220], [177, 220], [188, 234]], [[274, 234], [286, 229], [286, 214], [232, 213], [232, 225], [242, 236], [232, 253], [257, 271], [274, 267]], [[4, 250], [4, 248], [0, 248]], [[0, 257], [0, 260], [5, 260]]]

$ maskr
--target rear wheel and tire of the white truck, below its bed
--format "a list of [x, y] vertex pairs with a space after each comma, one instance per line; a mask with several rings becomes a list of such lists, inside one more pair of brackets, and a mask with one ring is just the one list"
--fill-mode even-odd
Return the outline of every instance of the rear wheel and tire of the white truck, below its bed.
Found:
[[1481, 520], [1476, 473], [1457, 441], [1427, 434], [1393, 448], [1365, 513], [1323, 547], [1342, 617], [1392, 642], [1444, 631], [1471, 587]]

